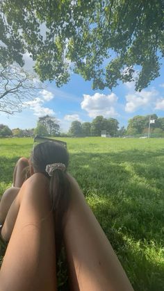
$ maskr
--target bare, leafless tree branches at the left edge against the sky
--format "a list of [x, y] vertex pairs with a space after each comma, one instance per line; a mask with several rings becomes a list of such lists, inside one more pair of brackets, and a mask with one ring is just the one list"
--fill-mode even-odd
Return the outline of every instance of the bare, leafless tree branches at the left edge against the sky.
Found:
[[22, 111], [24, 101], [33, 99], [42, 88], [33, 78], [18, 66], [0, 65], [0, 112], [13, 115]]

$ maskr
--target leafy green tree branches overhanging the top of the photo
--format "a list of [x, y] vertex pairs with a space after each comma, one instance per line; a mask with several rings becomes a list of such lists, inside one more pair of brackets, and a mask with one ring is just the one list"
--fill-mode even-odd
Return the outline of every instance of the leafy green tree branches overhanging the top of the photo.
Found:
[[42, 81], [63, 85], [72, 67], [94, 89], [121, 80], [140, 91], [159, 76], [163, 12], [163, 0], [1, 0], [0, 63], [22, 66], [27, 51]]

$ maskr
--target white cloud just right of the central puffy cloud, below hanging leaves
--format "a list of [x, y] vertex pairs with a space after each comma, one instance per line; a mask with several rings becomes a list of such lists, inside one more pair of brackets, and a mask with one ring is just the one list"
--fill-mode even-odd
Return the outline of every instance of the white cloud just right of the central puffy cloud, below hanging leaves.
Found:
[[154, 106], [158, 91], [152, 88], [149, 91], [142, 90], [141, 92], [133, 92], [126, 94], [125, 111], [128, 113], [135, 112], [147, 106]]

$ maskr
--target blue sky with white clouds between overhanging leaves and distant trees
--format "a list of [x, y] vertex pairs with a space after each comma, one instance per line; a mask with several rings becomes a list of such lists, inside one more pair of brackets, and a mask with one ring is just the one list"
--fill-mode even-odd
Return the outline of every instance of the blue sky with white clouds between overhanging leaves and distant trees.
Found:
[[[25, 69], [33, 70], [33, 61], [24, 56]], [[84, 81], [72, 74], [69, 83], [57, 88], [55, 82], [45, 82], [34, 100], [26, 101], [22, 113], [6, 115], [0, 113], [0, 124], [9, 128], [35, 128], [38, 118], [44, 115], [56, 117], [61, 132], [67, 132], [72, 121], [92, 122], [97, 115], [113, 117], [119, 126], [127, 126], [128, 120], [135, 115], [164, 117], [164, 62], [161, 76], [151, 81], [148, 88], [141, 92], [134, 90], [134, 83], [120, 83], [113, 91], [92, 90], [92, 82]]]

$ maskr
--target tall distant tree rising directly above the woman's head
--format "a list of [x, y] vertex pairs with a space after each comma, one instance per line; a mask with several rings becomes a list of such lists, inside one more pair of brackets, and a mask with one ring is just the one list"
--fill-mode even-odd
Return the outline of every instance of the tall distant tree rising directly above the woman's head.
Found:
[[42, 124], [46, 128], [48, 135], [55, 136], [59, 134], [60, 126], [55, 117], [49, 115], [39, 117], [38, 124]]

